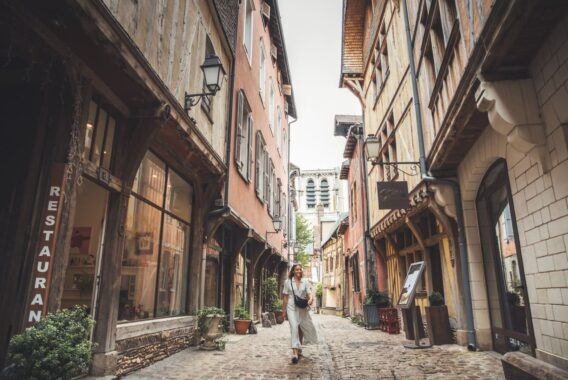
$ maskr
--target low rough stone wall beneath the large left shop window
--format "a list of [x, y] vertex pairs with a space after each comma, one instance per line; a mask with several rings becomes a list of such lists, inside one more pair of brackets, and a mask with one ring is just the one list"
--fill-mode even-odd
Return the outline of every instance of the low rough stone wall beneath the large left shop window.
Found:
[[122, 376], [195, 344], [195, 326], [171, 329], [116, 342], [116, 375]]

